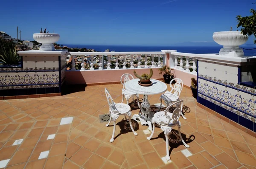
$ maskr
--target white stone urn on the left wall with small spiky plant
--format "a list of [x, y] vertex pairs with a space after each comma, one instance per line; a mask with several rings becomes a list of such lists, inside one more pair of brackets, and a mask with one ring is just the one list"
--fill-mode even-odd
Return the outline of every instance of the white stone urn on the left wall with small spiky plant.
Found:
[[40, 51], [54, 51], [54, 45], [52, 43], [57, 42], [60, 39], [59, 34], [51, 34], [51, 33], [38, 33], [33, 34], [33, 38], [35, 41], [41, 43]]

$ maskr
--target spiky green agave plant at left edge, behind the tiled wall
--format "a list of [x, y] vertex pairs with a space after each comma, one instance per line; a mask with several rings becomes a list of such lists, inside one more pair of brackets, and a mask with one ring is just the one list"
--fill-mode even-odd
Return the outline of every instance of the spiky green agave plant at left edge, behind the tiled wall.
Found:
[[2, 49], [3, 54], [0, 54], [0, 61], [3, 62], [4, 65], [17, 65], [20, 61], [20, 57], [16, 51], [16, 45], [9, 46], [9, 51], [6, 51], [5, 48]]

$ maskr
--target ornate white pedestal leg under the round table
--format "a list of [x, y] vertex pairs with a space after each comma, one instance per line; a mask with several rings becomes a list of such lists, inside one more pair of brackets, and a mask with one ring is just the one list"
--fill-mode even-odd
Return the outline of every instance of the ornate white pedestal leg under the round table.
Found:
[[[138, 104], [140, 103], [138, 102]], [[140, 104], [139, 107], [140, 107], [141, 113], [139, 113], [138, 115], [137, 114], [133, 115], [132, 119], [137, 121], [137, 118], [138, 118], [142, 125], [148, 124], [149, 130], [152, 131], [151, 118], [153, 115], [150, 111], [150, 103], [148, 101], [148, 95], [144, 95], [143, 102]]]

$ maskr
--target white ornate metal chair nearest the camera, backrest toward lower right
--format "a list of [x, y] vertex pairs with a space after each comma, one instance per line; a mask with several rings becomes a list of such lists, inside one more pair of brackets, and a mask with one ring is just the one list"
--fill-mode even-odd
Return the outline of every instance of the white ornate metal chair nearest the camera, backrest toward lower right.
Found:
[[[175, 110], [173, 110], [173, 112], [169, 112], [169, 109], [171, 107], [175, 106]], [[157, 123], [158, 125], [160, 125], [160, 128], [163, 130], [165, 136], [166, 136], [166, 159], [169, 161], [170, 160], [170, 156], [169, 156], [169, 133], [172, 131], [172, 127], [173, 126], [178, 126], [179, 127], [179, 135], [180, 135], [180, 139], [182, 141], [182, 143], [184, 144], [184, 146], [186, 146], [187, 148], [189, 148], [189, 145], [187, 145], [185, 143], [185, 141], [183, 140], [181, 133], [180, 133], [180, 127], [181, 127], [181, 123], [179, 121], [180, 118], [180, 114], [182, 114], [182, 106], [183, 106], [183, 100], [177, 101], [171, 105], [169, 105], [169, 107], [166, 108], [165, 111], [161, 111], [161, 112], [157, 112], [154, 114], [151, 122], [153, 125], [153, 130], [152, 133], [149, 137], [147, 137], [148, 140], [151, 139], [151, 137], [154, 134], [154, 129], [155, 129], [155, 123]]]

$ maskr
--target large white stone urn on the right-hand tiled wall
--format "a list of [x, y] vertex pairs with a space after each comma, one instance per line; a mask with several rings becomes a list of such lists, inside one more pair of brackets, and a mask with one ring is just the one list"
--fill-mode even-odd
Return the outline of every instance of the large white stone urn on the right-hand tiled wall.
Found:
[[241, 34], [241, 31], [214, 32], [212, 38], [219, 45], [223, 45], [220, 55], [244, 56], [244, 51], [239, 46], [248, 40], [248, 35]]

